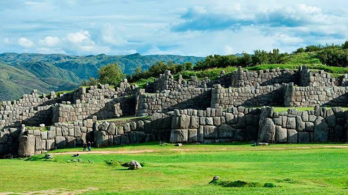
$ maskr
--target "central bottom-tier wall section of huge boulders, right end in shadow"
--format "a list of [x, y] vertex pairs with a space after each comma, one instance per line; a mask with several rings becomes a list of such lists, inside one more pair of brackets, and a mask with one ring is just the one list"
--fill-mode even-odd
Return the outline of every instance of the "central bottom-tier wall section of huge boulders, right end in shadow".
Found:
[[231, 107], [206, 110], [174, 110], [170, 142], [219, 143], [254, 141], [258, 132], [260, 109]]

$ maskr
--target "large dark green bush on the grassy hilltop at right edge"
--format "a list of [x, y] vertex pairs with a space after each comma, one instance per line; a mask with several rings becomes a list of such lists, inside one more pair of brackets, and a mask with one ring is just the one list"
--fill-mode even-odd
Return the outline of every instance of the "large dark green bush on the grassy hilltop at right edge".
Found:
[[347, 49], [324, 49], [318, 53], [319, 60], [329, 66], [346, 67], [348, 66]]

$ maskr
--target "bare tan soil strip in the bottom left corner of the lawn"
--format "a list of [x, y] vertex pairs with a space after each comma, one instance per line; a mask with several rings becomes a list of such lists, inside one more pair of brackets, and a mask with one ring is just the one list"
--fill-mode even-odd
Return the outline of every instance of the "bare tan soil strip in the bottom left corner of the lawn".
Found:
[[99, 188], [87, 188], [87, 189], [76, 189], [76, 190], [67, 190], [67, 189], [48, 189], [41, 191], [31, 191], [31, 192], [0, 192], [0, 195], [8, 195], [8, 194], [61, 194], [61, 195], [73, 195], [73, 194], [81, 194], [84, 192], [88, 192], [90, 190], [98, 190]]

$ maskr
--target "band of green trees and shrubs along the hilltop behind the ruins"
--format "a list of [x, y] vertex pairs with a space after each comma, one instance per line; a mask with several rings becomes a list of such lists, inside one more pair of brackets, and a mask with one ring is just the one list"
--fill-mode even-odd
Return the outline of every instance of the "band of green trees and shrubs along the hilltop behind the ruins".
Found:
[[[158, 77], [165, 70], [170, 70], [172, 74], [183, 74], [187, 77], [191, 75], [192, 70], [206, 70], [210, 68], [225, 67], [250, 67], [264, 64], [286, 64], [291, 63], [291, 59], [300, 53], [314, 53], [314, 58], [319, 59], [321, 63], [328, 66], [347, 67], [348, 66], [348, 41], [342, 45], [308, 45], [304, 48], [298, 48], [292, 53], [280, 53], [279, 49], [272, 51], [255, 50], [253, 54], [243, 53], [242, 56], [236, 55], [209, 55], [204, 60], [196, 62], [193, 66], [191, 62], [173, 63], [172, 61], [158, 61], [151, 65], [148, 70], [142, 70], [137, 67], [132, 75], [122, 74], [122, 70], [117, 63], [109, 64], [99, 69], [98, 78], [89, 78], [83, 80], [82, 85], [97, 85], [98, 83], [117, 85], [123, 78], [129, 82], [137, 82], [140, 79]], [[297, 62], [298, 63], [298, 62]]]

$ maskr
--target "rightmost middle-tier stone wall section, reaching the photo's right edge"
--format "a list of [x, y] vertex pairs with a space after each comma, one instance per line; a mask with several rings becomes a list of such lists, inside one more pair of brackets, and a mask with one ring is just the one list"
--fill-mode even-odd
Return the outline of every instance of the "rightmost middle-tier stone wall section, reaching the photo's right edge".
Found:
[[297, 87], [290, 83], [285, 88], [284, 105], [291, 107], [313, 107], [315, 105], [347, 106], [347, 92], [348, 87]]

